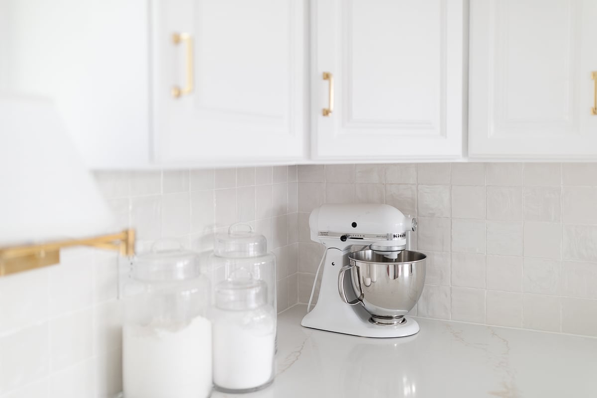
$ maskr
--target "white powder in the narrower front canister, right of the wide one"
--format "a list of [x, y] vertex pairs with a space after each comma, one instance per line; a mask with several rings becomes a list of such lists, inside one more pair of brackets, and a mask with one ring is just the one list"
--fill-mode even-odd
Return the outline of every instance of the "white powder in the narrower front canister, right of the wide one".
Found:
[[273, 308], [214, 310], [214, 384], [250, 390], [273, 380], [276, 325]]

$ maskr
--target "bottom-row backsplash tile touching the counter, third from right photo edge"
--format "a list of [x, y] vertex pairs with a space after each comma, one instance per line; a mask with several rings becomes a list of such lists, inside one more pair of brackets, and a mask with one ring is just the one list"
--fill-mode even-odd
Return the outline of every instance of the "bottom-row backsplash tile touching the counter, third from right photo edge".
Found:
[[522, 293], [488, 290], [486, 299], [488, 325], [522, 326]]

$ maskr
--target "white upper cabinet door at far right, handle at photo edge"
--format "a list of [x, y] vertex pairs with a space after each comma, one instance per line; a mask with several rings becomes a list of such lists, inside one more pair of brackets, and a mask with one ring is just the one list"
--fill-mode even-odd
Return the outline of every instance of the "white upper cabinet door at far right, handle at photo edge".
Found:
[[595, 159], [597, 1], [470, 3], [470, 156]]

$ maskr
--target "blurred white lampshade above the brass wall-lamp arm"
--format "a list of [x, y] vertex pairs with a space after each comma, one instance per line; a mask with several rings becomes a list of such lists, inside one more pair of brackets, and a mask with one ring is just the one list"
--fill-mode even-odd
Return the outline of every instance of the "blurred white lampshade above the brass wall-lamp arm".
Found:
[[49, 101], [0, 95], [0, 247], [113, 232], [113, 218]]

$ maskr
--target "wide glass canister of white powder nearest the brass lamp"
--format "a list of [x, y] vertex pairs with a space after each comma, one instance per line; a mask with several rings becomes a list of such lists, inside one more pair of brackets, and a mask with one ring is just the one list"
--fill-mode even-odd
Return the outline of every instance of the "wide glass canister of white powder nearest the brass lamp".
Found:
[[124, 398], [210, 396], [211, 291], [198, 255], [155, 247], [139, 255], [124, 295]]

